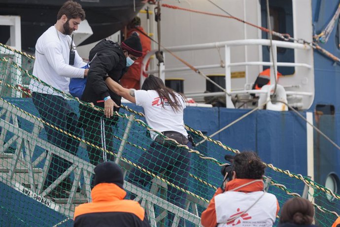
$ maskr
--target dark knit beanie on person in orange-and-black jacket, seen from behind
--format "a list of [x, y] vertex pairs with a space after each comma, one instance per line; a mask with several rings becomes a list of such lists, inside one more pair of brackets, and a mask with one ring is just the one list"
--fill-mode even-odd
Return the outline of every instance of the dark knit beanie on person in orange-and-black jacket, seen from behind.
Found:
[[123, 189], [123, 172], [116, 163], [112, 161], [105, 161], [96, 166], [94, 181], [94, 186], [100, 183], [113, 183]]

